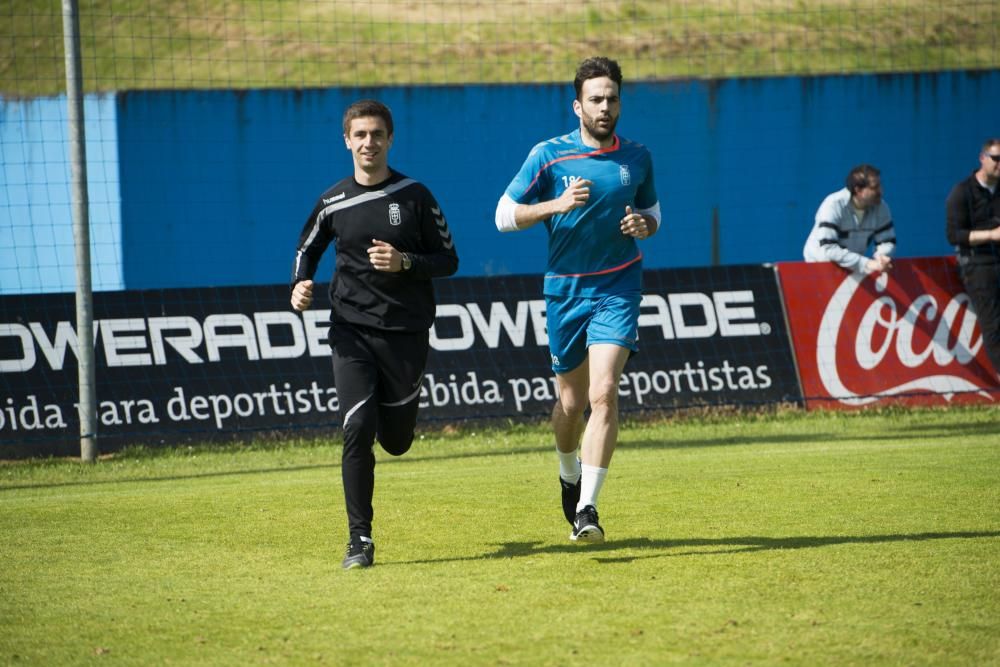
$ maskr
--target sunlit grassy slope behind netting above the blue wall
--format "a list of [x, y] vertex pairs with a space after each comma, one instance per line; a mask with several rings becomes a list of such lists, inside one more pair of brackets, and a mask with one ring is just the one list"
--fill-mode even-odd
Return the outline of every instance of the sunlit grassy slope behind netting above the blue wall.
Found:
[[[91, 0], [87, 91], [995, 68], [994, 0]], [[59, 3], [0, 5], [0, 94], [65, 88]]]

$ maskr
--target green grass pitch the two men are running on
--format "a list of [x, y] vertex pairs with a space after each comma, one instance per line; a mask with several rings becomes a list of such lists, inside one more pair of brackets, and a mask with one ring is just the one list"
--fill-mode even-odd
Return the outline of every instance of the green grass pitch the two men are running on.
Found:
[[995, 408], [628, 423], [578, 546], [544, 426], [0, 465], [0, 664], [1000, 664]]

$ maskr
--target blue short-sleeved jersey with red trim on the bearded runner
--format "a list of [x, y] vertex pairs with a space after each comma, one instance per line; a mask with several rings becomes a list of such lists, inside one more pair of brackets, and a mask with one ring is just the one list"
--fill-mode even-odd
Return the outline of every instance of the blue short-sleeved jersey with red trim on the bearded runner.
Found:
[[625, 207], [656, 205], [653, 160], [642, 144], [615, 137], [593, 148], [577, 129], [535, 146], [506, 194], [518, 204], [558, 198], [576, 179], [592, 182], [587, 203], [545, 221], [549, 257], [545, 289], [552, 296], [601, 296], [642, 289], [642, 252], [621, 231]]

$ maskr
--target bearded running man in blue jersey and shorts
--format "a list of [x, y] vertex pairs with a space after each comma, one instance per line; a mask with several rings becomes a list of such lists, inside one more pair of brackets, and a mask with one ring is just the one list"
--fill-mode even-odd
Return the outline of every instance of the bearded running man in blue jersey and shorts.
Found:
[[618, 441], [618, 381], [638, 350], [636, 241], [656, 233], [660, 205], [649, 150], [615, 134], [618, 63], [589, 58], [573, 85], [579, 129], [531, 150], [497, 204], [496, 225], [512, 232], [543, 222], [548, 231], [544, 292], [563, 514], [572, 541], [599, 543], [597, 498]]

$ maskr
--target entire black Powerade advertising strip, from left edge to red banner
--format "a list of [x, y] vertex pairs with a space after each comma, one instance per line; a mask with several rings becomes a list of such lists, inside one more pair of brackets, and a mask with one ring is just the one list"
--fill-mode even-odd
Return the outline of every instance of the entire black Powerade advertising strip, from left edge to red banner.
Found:
[[[545, 416], [556, 398], [540, 276], [437, 282], [422, 419]], [[100, 446], [340, 423], [328, 303], [288, 287], [99, 292]], [[799, 401], [772, 268], [652, 271], [623, 410]], [[72, 294], [0, 297], [0, 456], [78, 453]]]

